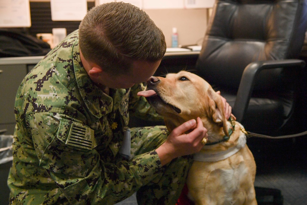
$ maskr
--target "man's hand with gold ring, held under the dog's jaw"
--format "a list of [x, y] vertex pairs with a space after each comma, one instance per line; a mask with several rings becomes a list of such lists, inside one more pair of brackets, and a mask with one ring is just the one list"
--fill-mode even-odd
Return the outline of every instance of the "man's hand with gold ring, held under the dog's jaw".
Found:
[[[207, 129], [204, 128], [199, 117], [196, 120], [189, 120], [175, 128], [169, 134], [167, 140], [156, 149], [162, 166], [176, 157], [199, 152], [204, 147], [200, 141], [204, 137], [208, 137]], [[193, 129], [193, 131], [184, 134], [190, 129]]]

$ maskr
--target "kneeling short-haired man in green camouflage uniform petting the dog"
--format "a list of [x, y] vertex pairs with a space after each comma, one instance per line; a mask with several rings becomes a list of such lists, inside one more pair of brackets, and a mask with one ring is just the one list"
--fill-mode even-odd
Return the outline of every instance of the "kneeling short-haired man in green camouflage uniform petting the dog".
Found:
[[119, 154], [129, 112], [161, 119], [137, 93], [165, 49], [161, 30], [137, 7], [113, 2], [88, 12], [18, 89], [10, 203], [114, 204], [137, 191], [139, 204], [175, 204], [188, 155], [206, 137], [200, 121], [172, 133], [131, 128], [130, 159]]

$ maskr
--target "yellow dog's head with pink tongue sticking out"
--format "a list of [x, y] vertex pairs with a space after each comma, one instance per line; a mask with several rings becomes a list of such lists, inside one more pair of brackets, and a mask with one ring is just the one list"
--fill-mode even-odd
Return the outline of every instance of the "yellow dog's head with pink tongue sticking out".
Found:
[[165, 78], [150, 77], [146, 97], [156, 111], [164, 117], [171, 131], [183, 122], [200, 117], [208, 129], [223, 127], [228, 136], [223, 101], [203, 78], [186, 71], [169, 73]]

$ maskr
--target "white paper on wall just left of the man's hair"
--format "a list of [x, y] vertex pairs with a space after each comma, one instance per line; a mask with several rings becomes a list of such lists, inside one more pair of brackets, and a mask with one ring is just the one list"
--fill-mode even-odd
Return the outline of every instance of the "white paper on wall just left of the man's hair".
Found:
[[50, 0], [52, 21], [81, 21], [87, 13], [87, 0]]

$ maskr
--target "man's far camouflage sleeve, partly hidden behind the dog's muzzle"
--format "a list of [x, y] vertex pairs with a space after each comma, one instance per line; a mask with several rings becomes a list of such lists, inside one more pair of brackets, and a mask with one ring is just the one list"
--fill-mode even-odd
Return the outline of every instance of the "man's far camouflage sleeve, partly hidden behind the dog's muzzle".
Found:
[[141, 119], [163, 121], [163, 117], [160, 116], [155, 109], [148, 103], [145, 97], [138, 96], [139, 91], [146, 89], [146, 86], [141, 84], [134, 85], [130, 90], [130, 99], [129, 99], [129, 113], [134, 116], [138, 116]]

